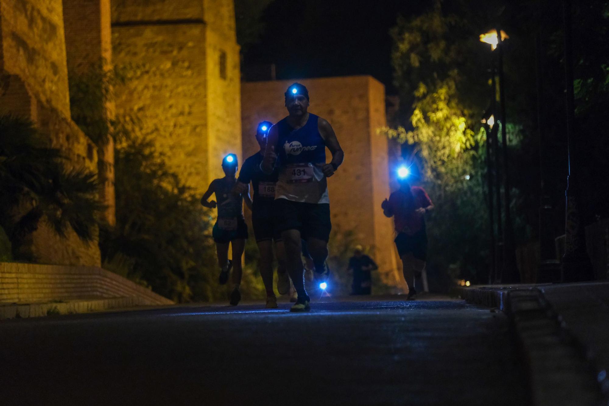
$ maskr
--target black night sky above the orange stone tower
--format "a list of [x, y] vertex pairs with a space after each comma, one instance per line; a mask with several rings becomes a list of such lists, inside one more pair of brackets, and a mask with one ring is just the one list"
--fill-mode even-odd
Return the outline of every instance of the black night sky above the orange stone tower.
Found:
[[392, 85], [389, 30], [399, 14], [425, 2], [404, 0], [276, 0], [262, 15], [266, 29], [244, 66], [275, 63], [277, 79], [370, 74]]

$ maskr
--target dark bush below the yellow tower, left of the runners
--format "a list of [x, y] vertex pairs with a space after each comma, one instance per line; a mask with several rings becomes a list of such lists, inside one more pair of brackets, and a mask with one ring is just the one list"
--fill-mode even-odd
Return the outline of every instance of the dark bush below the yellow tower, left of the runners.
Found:
[[149, 140], [121, 143], [114, 168], [116, 226], [100, 241], [107, 267], [174, 301], [216, 298], [211, 217], [199, 198]]

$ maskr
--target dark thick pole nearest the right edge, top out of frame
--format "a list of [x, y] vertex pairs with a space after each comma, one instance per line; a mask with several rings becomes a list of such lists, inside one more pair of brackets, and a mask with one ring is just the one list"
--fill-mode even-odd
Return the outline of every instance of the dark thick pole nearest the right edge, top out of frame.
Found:
[[[577, 170], [577, 143], [574, 137], [573, 44], [571, 31], [571, 0], [563, 2], [565, 27], [565, 84], [567, 121], [567, 190], [565, 191], [565, 256], [561, 272], [563, 282], [593, 279], [592, 263], [586, 252], [586, 235], [579, 210], [579, 182]], [[576, 164], [576, 165], [573, 165]]]

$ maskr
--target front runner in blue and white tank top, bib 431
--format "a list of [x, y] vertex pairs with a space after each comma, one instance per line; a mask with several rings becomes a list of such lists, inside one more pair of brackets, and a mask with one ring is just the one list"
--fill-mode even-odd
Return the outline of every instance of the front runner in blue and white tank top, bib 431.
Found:
[[[309, 91], [295, 83], [287, 88], [285, 104], [289, 115], [271, 127], [261, 169], [266, 174], [278, 168], [275, 187], [275, 221], [286, 250], [287, 271], [298, 299], [292, 312], [310, 309], [300, 258], [306, 241], [315, 264], [315, 276], [325, 280], [328, 269], [328, 240], [332, 224], [326, 178], [343, 162], [344, 153], [332, 126], [308, 112]], [[326, 148], [332, 160], [326, 163]]]

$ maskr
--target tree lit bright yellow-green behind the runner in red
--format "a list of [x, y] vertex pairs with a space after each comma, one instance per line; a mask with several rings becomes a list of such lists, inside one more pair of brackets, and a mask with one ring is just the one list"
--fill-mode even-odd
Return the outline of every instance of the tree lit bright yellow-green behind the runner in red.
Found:
[[459, 16], [446, 15], [440, 2], [423, 15], [398, 19], [392, 62], [400, 98], [409, 103], [407, 122], [380, 130], [404, 144], [407, 164], [419, 168], [413, 176], [436, 206], [428, 221], [428, 268], [435, 288], [447, 271], [476, 280], [487, 254], [481, 238], [487, 235], [480, 155], [485, 135], [473, 113], [487, 100], [462, 96], [463, 88], [477, 87], [469, 75], [479, 69], [464, 64], [475, 54], [465, 26]]

